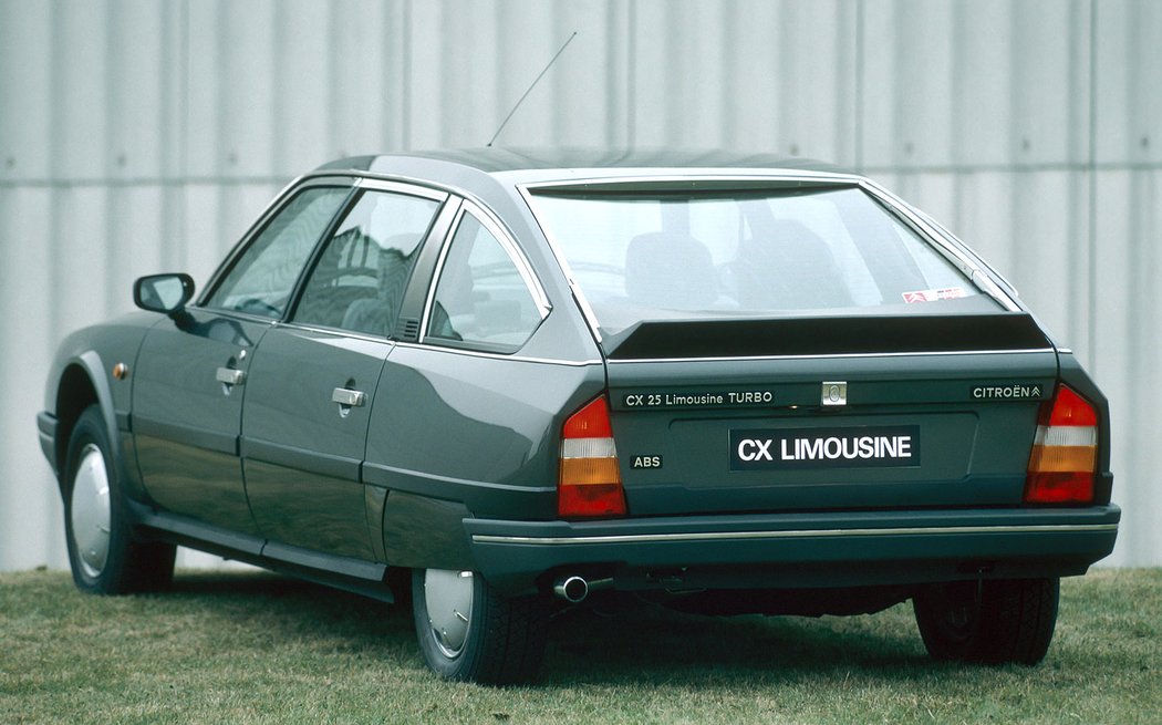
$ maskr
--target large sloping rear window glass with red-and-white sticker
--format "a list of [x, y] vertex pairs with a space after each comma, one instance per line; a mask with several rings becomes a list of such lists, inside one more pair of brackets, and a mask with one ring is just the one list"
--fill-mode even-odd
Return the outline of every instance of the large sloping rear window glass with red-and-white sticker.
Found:
[[533, 189], [603, 330], [643, 320], [1000, 309], [855, 187]]

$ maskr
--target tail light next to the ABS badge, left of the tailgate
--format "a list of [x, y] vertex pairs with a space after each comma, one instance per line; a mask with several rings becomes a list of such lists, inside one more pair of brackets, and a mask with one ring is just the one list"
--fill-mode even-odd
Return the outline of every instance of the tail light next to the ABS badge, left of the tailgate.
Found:
[[609, 424], [609, 403], [604, 395], [565, 421], [560, 460], [557, 480], [559, 516], [622, 516], [626, 512], [614, 429]]

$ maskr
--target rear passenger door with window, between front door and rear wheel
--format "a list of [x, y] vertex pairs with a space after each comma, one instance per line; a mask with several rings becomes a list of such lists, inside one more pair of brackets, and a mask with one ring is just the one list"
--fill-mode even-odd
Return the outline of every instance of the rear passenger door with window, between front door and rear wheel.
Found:
[[267, 538], [265, 554], [277, 559], [382, 558], [361, 479], [367, 422], [411, 268], [447, 195], [363, 186], [288, 324], [266, 333], [251, 364], [242, 431], [246, 493]]

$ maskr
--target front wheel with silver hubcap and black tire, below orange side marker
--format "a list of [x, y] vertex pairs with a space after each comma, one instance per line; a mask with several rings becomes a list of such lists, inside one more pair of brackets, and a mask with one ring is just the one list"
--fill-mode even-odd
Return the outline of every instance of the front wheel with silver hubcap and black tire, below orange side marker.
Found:
[[164, 589], [177, 548], [134, 539], [112, 451], [101, 409], [89, 405], [69, 439], [60, 487], [73, 582], [92, 594]]

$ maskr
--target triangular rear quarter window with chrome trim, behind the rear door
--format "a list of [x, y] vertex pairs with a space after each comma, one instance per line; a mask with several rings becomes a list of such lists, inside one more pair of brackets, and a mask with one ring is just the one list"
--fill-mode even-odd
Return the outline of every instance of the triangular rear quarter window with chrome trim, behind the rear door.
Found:
[[436, 285], [428, 336], [512, 352], [541, 318], [541, 308], [504, 245], [475, 216], [465, 214]]

